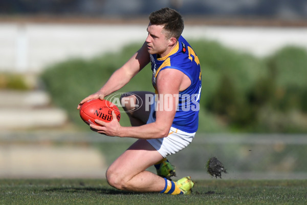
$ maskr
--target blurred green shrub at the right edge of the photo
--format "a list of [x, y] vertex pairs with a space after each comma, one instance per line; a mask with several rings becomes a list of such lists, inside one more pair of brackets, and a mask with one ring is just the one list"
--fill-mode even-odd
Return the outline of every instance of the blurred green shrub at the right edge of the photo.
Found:
[[257, 132], [307, 131], [307, 52], [285, 47], [265, 59], [268, 76], [254, 86]]

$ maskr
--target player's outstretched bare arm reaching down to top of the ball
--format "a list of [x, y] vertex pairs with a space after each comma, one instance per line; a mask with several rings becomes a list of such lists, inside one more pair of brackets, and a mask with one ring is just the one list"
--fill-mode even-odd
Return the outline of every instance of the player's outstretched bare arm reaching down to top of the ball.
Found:
[[146, 43], [118, 70], [116, 70], [107, 80], [104, 86], [96, 93], [85, 97], [77, 109], [90, 99], [100, 98], [121, 89], [126, 85], [131, 78], [133, 78], [140, 70], [142, 70], [149, 63], [149, 53], [147, 52]]

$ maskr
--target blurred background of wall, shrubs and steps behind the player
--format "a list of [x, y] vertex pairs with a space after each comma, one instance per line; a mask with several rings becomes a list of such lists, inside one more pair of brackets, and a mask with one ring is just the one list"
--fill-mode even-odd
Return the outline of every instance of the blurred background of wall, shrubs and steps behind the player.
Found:
[[[0, 177], [104, 178], [135, 140], [90, 131], [76, 107], [136, 52], [148, 15], [164, 7], [183, 15], [203, 77], [199, 131], [169, 157], [177, 175], [210, 178], [216, 156], [225, 179], [307, 177], [303, 0], [2, 0]], [[150, 77], [147, 66], [119, 92], [152, 91]]]

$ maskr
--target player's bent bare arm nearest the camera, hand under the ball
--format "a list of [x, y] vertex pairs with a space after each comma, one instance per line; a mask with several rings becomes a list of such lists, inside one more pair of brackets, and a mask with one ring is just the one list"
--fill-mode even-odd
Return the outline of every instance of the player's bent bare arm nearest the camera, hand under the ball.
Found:
[[[98, 133], [108, 136], [133, 137], [139, 139], [162, 138], [168, 136], [172, 121], [176, 114], [178, 94], [180, 86], [182, 85], [183, 76], [184, 74], [181, 71], [174, 69], [165, 69], [159, 73], [156, 84], [159, 99], [155, 122], [139, 127], [121, 127], [119, 122], [115, 120], [116, 116], [114, 116], [114, 120], [111, 122], [95, 120], [101, 126], [91, 125], [91, 127]], [[165, 100], [165, 96], [168, 97], [167, 100]], [[167, 104], [167, 106], [165, 104]]]

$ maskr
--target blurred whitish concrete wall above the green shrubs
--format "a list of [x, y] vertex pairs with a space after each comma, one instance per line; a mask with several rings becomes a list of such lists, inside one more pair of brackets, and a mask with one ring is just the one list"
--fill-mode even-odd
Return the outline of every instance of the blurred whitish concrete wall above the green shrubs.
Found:
[[[0, 23], [0, 72], [40, 73], [69, 57], [90, 58], [143, 42], [147, 25]], [[307, 28], [185, 27], [187, 39], [207, 38], [265, 56], [286, 45], [307, 49]], [[204, 48], [205, 49], [205, 48]]]

